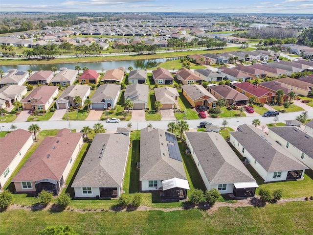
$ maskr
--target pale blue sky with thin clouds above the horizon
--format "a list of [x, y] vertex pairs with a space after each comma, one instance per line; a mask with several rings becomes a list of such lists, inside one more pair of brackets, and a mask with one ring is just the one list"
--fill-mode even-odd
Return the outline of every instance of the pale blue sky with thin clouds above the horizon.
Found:
[[313, 14], [313, 0], [0, 0], [4, 11]]

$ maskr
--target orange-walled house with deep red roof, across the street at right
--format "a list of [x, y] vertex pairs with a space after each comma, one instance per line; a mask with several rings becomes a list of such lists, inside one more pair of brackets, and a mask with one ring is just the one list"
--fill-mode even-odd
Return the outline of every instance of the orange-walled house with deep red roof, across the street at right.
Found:
[[268, 103], [272, 100], [273, 93], [265, 90], [261, 87], [258, 87], [249, 82], [235, 83], [232, 86], [236, 89], [236, 91], [246, 95], [247, 97], [254, 96], [256, 98], [256, 103]]

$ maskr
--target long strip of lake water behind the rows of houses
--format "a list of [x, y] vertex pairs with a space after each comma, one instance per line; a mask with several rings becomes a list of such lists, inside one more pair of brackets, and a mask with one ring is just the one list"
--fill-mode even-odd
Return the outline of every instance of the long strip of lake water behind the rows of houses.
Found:
[[[89, 63], [65, 63], [65, 64], [47, 64], [47, 65], [0, 65], [0, 70], [7, 72], [10, 69], [16, 69], [19, 71], [40, 71], [48, 70], [50, 71], [52, 67], [67, 68], [70, 70], [75, 70], [75, 66], [79, 65], [82, 69], [86, 66], [90, 70], [112, 70], [119, 67], [124, 67], [126, 70], [128, 67], [132, 66], [134, 70], [143, 70], [156, 67], [159, 63], [163, 63], [170, 60], [178, 60], [181, 57], [172, 58], [159, 58], [159, 59], [148, 59], [148, 60], [122, 60], [122, 61], [104, 61], [104, 62], [89, 62]], [[1, 64], [1, 61], [0, 61]], [[168, 68], [171, 70], [171, 68]]]

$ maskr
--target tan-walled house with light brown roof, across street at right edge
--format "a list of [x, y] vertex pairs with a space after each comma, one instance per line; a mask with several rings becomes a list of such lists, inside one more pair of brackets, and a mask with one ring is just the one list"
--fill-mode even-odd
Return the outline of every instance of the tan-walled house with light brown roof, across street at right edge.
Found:
[[275, 82], [282, 83], [285, 86], [289, 87], [291, 91], [295, 92], [296, 94], [302, 94], [304, 96], [307, 96], [309, 92], [313, 90], [312, 83], [304, 82], [299, 79], [294, 79], [290, 77], [276, 79]]

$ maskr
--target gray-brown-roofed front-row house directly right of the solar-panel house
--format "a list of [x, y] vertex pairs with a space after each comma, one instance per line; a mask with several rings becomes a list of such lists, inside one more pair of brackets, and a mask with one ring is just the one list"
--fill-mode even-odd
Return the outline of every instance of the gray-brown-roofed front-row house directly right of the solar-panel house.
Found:
[[237, 198], [254, 196], [259, 186], [219, 133], [185, 132], [185, 136], [207, 190], [216, 188]]

